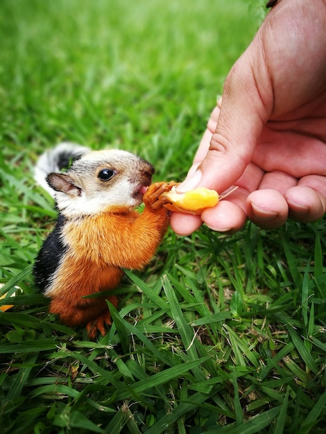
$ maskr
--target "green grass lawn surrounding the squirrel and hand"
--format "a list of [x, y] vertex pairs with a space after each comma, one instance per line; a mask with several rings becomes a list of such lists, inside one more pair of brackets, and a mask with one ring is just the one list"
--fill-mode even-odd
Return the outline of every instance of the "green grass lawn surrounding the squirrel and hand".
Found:
[[1, 434], [325, 433], [325, 220], [169, 231], [97, 342], [31, 275], [55, 221], [37, 155], [119, 147], [182, 180], [257, 3], [1, 1], [0, 294], [22, 288], [0, 312]]

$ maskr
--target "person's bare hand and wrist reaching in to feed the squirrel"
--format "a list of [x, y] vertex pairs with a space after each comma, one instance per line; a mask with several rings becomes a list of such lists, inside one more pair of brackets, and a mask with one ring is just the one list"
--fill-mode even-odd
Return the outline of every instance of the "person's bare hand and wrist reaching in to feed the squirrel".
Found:
[[225, 80], [187, 178], [223, 196], [201, 216], [173, 213], [180, 235], [202, 223], [273, 229], [326, 211], [326, 1], [280, 0]]

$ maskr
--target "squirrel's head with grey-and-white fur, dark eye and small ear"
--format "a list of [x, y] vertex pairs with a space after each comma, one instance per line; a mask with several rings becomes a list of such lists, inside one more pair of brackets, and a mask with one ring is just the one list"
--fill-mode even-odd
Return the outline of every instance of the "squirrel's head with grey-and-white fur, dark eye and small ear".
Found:
[[126, 212], [143, 200], [154, 167], [124, 150], [97, 150], [76, 160], [65, 173], [46, 178], [58, 209], [67, 217], [102, 211]]

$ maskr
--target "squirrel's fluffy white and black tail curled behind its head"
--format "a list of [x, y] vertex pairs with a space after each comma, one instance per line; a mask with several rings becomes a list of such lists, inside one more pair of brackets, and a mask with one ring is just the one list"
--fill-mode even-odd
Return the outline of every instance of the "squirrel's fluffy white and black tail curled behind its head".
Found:
[[35, 165], [35, 181], [53, 196], [53, 189], [46, 182], [46, 177], [49, 173], [60, 172], [62, 169], [69, 168], [71, 162], [76, 161], [76, 159], [89, 153], [89, 151], [90, 149], [85, 146], [69, 142], [62, 142], [54, 148], [46, 150]]

